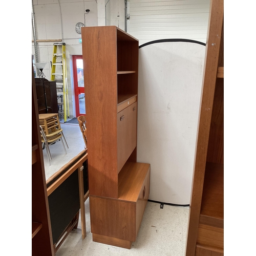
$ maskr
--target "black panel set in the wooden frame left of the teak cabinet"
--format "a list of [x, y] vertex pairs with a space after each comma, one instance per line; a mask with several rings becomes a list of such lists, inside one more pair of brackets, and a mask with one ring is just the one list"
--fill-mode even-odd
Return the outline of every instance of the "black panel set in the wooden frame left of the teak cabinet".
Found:
[[80, 209], [78, 169], [48, 196], [53, 244]]

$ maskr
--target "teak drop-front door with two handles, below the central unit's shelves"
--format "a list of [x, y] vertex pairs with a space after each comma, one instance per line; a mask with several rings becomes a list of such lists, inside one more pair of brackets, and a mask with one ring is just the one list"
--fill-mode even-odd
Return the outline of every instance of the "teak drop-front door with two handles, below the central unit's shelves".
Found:
[[117, 172], [137, 144], [137, 102], [117, 114]]

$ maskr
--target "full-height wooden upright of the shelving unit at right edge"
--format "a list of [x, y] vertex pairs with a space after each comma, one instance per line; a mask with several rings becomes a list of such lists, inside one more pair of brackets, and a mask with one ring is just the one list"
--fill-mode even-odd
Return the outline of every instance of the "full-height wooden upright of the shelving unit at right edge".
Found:
[[201, 110], [197, 137], [194, 177], [189, 210], [186, 256], [196, 253], [197, 233], [204, 184], [212, 108], [218, 71], [224, 13], [223, 0], [211, 0], [206, 43]]

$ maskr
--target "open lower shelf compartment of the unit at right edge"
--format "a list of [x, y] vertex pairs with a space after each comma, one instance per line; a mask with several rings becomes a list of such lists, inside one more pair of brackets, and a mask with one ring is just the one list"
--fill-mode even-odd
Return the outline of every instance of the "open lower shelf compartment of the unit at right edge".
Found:
[[222, 227], [224, 222], [224, 166], [206, 163], [200, 223]]

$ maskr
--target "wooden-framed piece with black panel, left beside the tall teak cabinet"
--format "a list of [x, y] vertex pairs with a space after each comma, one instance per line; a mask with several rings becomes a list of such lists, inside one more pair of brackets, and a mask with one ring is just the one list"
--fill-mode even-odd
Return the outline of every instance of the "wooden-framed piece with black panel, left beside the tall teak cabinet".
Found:
[[46, 181], [55, 252], [69, 233], [77, 228], [79, 210], [82, 239], [86, 237], [84, 202], [89, 197], [87, 165], [87, 151], [83, 150]]

